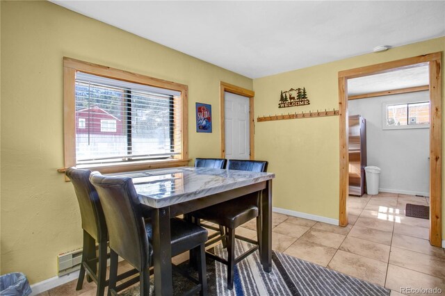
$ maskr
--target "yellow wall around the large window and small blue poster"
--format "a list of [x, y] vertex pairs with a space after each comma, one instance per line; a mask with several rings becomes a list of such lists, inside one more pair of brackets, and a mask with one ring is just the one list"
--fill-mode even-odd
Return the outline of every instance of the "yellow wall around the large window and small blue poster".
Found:
[[[216, 157], [219, 83], [252, 79], [46, 1], [1, 1], [1, 274], [56, 276], [56, 256], [81, 247], [79, 207], [63, 167], [63, 56], [188, 85], [189, 154]], [[195, 102], [213, 133], [195, 132]]]

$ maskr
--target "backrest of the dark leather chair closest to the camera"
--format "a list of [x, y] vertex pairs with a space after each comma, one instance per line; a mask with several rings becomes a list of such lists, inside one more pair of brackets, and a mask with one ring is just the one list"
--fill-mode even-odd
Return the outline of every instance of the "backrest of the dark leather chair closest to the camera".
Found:
[[139, 271], [144, 270], [149, 265], [149, 242], [133, 181], [99, 172], [92, 172], [90, 181], [104, 209], [110, 248]]

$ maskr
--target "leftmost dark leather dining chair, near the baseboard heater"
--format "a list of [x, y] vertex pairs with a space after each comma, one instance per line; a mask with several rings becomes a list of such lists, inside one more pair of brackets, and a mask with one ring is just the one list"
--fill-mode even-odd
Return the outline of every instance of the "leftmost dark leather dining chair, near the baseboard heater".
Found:
[[[76, 290], [82, 289], [85, 273], [88, 272], [88, 277], [97, 284], [96, 295], [102, 296], [109, 283], [106, 280], [108, 230], [97, 191], [88, 179], [90, 173], [90, 170], [80, 170], [76, 167], [70, 167], [65, 172], [76, 192], [83, 229], [82, 261]], [[96, 242], [99, 245], [98, 256], [96, 256]], [[120, 274], [119, 279], [130, 277], [137, 272], [137, 270], [129, 270]], [[126, 287], [120, 286], [120, 290], [123, 288]]]

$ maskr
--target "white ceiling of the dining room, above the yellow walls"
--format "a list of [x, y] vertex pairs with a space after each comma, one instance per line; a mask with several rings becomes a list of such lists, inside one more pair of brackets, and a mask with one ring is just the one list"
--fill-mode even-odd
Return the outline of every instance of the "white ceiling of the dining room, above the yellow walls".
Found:
[[250, 78], [445, 35], [445, 1], [53, 1]]

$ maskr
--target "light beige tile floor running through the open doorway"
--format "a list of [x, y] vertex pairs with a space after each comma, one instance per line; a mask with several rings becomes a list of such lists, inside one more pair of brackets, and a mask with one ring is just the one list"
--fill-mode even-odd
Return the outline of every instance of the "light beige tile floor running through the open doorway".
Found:
[[[378, 283], [391, 289], [391, 295], [401, 295], [403, 287], [439, 288], [445, 293], [444, 249], [428, 242], [428, 220], [405, 217], [407, 203], [428, 205], [429, 200], [391, 193], [349, 197], [348, 227], [273, 213], [273, 249]], [[236, 232], [254, 238], [255, 221]], [[174, 261], [186, 259], [188, 254], [183, 254]], [[127, 263], [121, 267], [120, 271], [130, 268]], [[94, 283], [86, 283], [81, 291], [75, 286], [72, 281], [42, 295], [95, 295]]]

